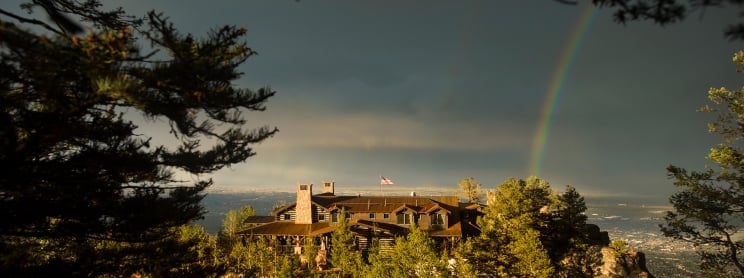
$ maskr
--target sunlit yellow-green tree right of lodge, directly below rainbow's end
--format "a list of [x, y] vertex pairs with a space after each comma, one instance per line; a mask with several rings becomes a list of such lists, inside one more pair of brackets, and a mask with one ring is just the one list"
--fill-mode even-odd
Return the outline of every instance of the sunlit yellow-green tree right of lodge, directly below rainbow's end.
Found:
[[548, 183], [536, 177], [508, 179], [489, 194], [489, 206], [478, 219], [481, 234], [464, 249], [477, 273], [500, 277], [553, 273], [540, 240], [545, 226], [541, 211], [552, 204], [551, 194]]

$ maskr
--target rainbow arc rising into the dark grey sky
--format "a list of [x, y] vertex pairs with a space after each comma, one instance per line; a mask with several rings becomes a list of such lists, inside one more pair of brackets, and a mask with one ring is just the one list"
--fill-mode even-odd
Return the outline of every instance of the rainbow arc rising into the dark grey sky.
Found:
[[553, 123], [553, 113], [558, 106], [558, 100], [563, 92], [563, 85], [566, 83], [568, 73], [571, 70], [573, 61], [581, 48], [589, 27], [594, 22], [596, 16], [594, 5], [586, 5], [581, 12], [579, 20], [573, 29], [571, 38], [568, 40], [561, 53], [560, 63], [556, 67], [550, 80], [550, 86], [545, 94], [543, 101], [542, 114], [537, 125], [537, 131], [532, 141], [532, 156], [530, 159], [530, 175], [540, 175], [545, 159], [545, 145], [550, 135], [550, 127]]

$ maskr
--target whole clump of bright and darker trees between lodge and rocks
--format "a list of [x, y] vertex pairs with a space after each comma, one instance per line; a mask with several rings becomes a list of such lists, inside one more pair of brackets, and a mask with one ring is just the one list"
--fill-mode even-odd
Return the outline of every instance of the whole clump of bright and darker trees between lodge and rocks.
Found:
[[586, 204], [575, 188], [558, 195], [536, 177], [508, 179], [488, 198], [481, 234], [458, 250], [463, 275], [563, 275], [561, 262], [586, 248]]

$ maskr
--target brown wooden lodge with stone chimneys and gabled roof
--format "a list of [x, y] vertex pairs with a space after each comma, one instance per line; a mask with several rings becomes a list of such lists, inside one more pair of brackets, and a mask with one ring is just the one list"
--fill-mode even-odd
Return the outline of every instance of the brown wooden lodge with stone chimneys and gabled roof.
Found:
[[373, 241], [383, 250], [392, 248], [395, 238], [406, 235], [414, 223], [442, 250], [479, 234], [476, 218], [482, 206], [460, 202], [457, 196], [337, 196], [334, 186], [324, 181], [321, 193], [313, 195], [313, 184], [298, 184], [295, 203], [274, 209], [271, 216], [248, 218], [249, 228], [240, 234], [263, 236], [283, 252], [297, 254], [305, 238], [312, 237], [323, 257], [342, 212], [363, 253]]

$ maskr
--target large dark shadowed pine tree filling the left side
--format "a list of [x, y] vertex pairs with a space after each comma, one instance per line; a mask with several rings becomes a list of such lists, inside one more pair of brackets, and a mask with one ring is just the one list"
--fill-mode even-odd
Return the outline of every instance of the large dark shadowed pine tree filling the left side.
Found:
[[[197, 39], [155, 12], [136, 19], [96, 0], [24, 7], [37, 4], [62, 27], [0, 15], [0, 272], [126, 276], [191, 265], [179, 252], [198, 241], [179, 242], [177, 229], [203, 216], [212, 181], [175, 174], [243, 162], [276, 132], [243, 127], [241, 112], [274, 95], [232, 85], [255, 54], [240, 41], [245, 30]], [[64, 14], [91, 31], [70, 33]], [[143, 134], [136, 113], [168, 123], [175, 140]]]

